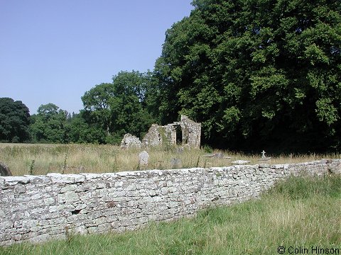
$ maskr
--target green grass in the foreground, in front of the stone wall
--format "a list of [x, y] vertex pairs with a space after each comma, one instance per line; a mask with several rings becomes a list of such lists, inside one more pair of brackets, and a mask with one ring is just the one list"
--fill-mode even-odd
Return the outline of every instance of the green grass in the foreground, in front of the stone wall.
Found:
[[278, 246], [341, 251], [340, 209], [341, 176], [292, 177], [260, 199], [210, 208], [190, 219], [123, 234], [15, 244], [0, 254], [278, 254]]

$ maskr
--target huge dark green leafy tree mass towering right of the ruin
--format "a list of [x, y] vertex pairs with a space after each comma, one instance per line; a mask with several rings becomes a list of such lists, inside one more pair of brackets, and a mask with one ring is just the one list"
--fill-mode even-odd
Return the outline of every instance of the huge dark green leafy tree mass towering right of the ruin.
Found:
[[340, 149], [339, 1], [196, 0], [166, 32], [159, 118], [236, 149]]

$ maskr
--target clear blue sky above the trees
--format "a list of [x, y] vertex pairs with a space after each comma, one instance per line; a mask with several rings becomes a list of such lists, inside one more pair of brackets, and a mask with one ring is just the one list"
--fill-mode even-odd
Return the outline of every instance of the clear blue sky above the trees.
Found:
[[0, 97], [36, 113], [77, 113], [81, 96], [120, 71], [146, 72], [192, 0], [0, 0]]

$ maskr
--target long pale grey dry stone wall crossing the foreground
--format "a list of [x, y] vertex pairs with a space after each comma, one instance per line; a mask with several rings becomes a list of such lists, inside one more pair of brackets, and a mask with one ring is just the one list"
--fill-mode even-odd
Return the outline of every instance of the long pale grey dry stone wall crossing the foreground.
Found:
[[290, 174], [340, 174], [340, 162], [0, 177], [0, 245], [174, 220], [256, 198]]

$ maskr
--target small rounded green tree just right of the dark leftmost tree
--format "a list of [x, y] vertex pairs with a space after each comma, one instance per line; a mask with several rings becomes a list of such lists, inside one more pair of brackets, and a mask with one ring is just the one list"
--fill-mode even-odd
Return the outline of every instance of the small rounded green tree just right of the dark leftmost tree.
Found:
[[31, 135], [34, 142], [69, 142], [70, 125], [67, 123], [67, 111], [53, 103], [41, 105], [38, 114], [32, 115]]

